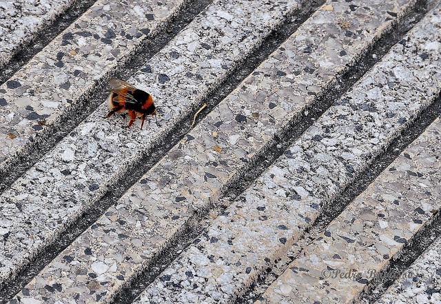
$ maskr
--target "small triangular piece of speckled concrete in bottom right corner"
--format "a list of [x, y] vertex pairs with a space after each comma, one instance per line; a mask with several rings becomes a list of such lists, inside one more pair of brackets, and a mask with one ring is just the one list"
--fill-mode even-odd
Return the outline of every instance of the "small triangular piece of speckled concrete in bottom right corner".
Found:
[[[438, 122], [438, 130], [440, 130]], [[438, 136], [439, 137], [439, 136]], [[438, 139], [438, 142], [440, 139]], [[438, 148], [439, 150], [439, 148]], [[438, 184], [440, 181], [438, 181]], [[376, 304], [441, 303], [441, 239], [429, 247]]]

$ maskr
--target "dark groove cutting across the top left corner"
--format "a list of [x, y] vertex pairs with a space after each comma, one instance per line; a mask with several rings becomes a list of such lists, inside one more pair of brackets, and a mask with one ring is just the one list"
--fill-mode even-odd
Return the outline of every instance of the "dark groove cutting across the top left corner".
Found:
[[21, 69], [23, 65], [28, 63], [32, 57], [52, 41], [59, 33], [68, 28], [72, 22], [81, 16], [88, 8], [94, 5], [96, 0], [77, 0], [70, 8], [66, 8], [61, 12], [50, 25], [45, 26], [42, 30], [37, 32], [34, 37], [28, 42], [19, 45], [15, 50], [10, 61], [0, 66], [0, 85], [5, 83], [15, 72]]

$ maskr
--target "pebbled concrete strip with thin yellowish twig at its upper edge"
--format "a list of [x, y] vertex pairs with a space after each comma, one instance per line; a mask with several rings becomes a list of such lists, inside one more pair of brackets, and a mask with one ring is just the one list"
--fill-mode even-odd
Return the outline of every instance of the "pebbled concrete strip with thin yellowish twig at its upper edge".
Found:
[[[360, 11], [353, 15], [346, 13], [350, 5], [345, 2], [333, 3], [333, 10], [329, 10], [329, 6], [319, 10], [165, 159], [143, 176], [116, 207], [110, 207], [95, 225], [45, 267], [26, 286], [26, 293], [19, 294], [19, 297], [41, 300], [44, 296], [51, 298], [48, 301], [56, 301], [61, 297], [66, 300], [74, 298], [78, 293], [82, 294], [78, 301], [88, 302], [92, 301], [88, 294], [93, 290], [101, 299], [110, 298], [124, 280], [145, 267], [152, 255], [178, 232], [194, 210], [205, 207], [209, 201], [216, 201], [220, 188], [230, 176], [267, 143], [271, 134], [278, 132], [286, 119], [300, 114], [307, 103], [298, 101], [294, 105], [295, 101], [289, 101], [292, 94], [309, 102], [314, 100], [309, 94], [311, 91], [296, 91], [289, 80], [283, 81], [283, 71], [290, 68], [299, 70], [298, 74], [286, 79], [295, 79], [304, 88], [316, 83], [320, 88], [316, 88], [315, 92], [319, 93], [334, 79], [331, 75], [344, 70], [347, 62], [365, 51], [373, 37], [382, 34], [382, 30], [376, 32], [371, 29], [387, 28], [386, 24], [390, 23], [386, 21], [386, 16], [367, 12], [374, 8], [384, 10], [390, 5], [384, 6], [382, 1], [372, 2], [369, 9], [365, 6], [365, 14]], [[407, 9], [407, 5], [405, 2], [396, 3], [402, 10]], [[342, 16], [357, 24], [352, 29], [359, 29], [362, 37], [348, 38], [347, 29], [333, 27]], [[334, 43], [351, 55], [347, 55], [345, 60], [340, 56], [329, 57], [329, 48], [320, 42], [316, 45], [316, 52], [305, 53], [302, 48], [305, 37], [316, 41], [329, 39], [329, 32], [323, 29], [331, 30]], [[300, 56], [304, 60], [296, 60]], [[329, 68], [322, 68], [311, 75], [309, 69], [305, 69], [308, 61], [315, 61], [317, 65], [326, 61]], [[265, 77], [265, 74], [269, 76]], [[278, 94], [276, 98], [274, 94]], [[261, 115], [255, 116], [256, 111]], [[216, 243], [218, 237], [214, 236], [209, 241]], [[201, 256], [204, 266], [207, 259]], [[244, 272], [249, 274], [246, 269]], [[229, 277], [229, 274], [225, 276]], [[60, 283], [63, 291], [45, 292], [45, 285], [52, 282]], [[231, 297], [236, 292], [232, 287], [228, 290], [224, 287], [225, 294], [217, 292], [212, 296], [216, 297], [216, 301]], [[201, 298], [196, 300], [201, 301]]]

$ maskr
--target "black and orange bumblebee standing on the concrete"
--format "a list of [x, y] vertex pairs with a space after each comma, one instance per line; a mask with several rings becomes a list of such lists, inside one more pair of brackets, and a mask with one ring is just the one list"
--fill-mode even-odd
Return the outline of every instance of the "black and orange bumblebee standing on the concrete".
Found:
[[126, 128], [130, 128], [136, 121], [136, 116], [140, 116], [141, 130], [143, 130], [145, 116], [156, 115], [156, 107], [152, 96], [119, 79], [110, 79], [109, 85], [111, 87], [108, 100], [110, 112], [105, 118], [125, 110], [130, 115], [130, 121]]

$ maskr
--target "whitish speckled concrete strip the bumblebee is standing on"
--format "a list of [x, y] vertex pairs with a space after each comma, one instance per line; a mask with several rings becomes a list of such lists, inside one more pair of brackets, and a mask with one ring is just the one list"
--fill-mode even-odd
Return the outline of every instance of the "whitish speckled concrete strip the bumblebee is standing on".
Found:
[[[131, 163], [154, 141], [167, 136], [172, 125], [181, 122], [183, 112], [193, 111], [209, 88], [227, 77], [284, 21], [285, 14], [297, 8], [296, 1], [213, 3], [128, 80], [151, 92], [156, 104], [162, 106], [161, 127], [152, 121], [140, 130], [138, 120], [130, 129], [121, 128], [127, 125], [127, 118], [115, 115], [103, 120], [108, 111], [103, 104], [3, 192], [0, 229], [6, 237], [0, 243], [1, 281], [13, 276], [103, 192], [119, 187], [114, 181], [131, 169]], [[143, 79], [142, 84], [136, 79]], [[216, 184], [215, 169], [206, 171], [194, 179]], [[156, 191], [167, 183], [166, 177], [161, 175]]]

